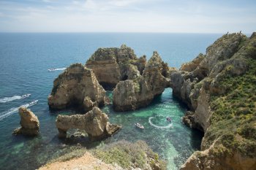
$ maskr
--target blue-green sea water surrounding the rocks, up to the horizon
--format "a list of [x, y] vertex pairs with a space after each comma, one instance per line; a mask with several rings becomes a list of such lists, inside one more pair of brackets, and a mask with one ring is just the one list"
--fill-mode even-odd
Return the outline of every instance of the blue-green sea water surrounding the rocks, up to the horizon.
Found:
[[[52, 112], [47, 97], [53, 80], [63, 71], [48, 72], [51, 68], [63, 68], [71, 63], [85, 63], [98, 47], [120, 47], [126, 44], [140, 56], [151, 57], [154, 50], [169, 66], [181, 63], [205, 53], [218, 34], [0, 34], [0, 169], [36, 169], [51, 158], [69, 152], [72, 147], [95, 147], [99, 142], [88, 139], [72, 141], [58, 139], [55, 126], [58, 114], [73, 114], [75, 110]], [[110, 94], [110, 92], [108, 92]], [[31, 96], [21, 97], [25, 94]], [[11, 97], [11, 98], [6, 98]], [[29, 102], [38, 100], [37, 104]], [[40, 121], [40, 135], [35, 138], [12, 136], [19, 126], [17, 109], [27, 104]], [[154, 102], [135, 112], [114, 112], [111, 105], [102, 108], [112, 123], [122, 130], [103, 143], [119, 139], [145, 140], [167, 160], [169, 169], [178, 169], [192, 152], [200, 147], [202, 134], [181, 123], [186, 107], [172, 96], [170, 88]], [[165, 117], [173, 119], [168, 126]], [[148, 119], [151, 117], [151, 125]], [[135, 128], [141, 123], [145, 129]], [[155, 125], [155, 126], [154, 126]]]

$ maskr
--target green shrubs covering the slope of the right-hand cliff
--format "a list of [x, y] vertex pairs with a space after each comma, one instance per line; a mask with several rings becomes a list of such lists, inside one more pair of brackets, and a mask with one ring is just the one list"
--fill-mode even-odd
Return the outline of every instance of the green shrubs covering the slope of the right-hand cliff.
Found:
[[[256, 51], [256, 47], [255, 51]], [[252, 47], [249, 48], [252, 50]], [[255, 56], [254, 56], [255, 57]], [[238, 150], [244, 156], [254, 157], [256, 152], [256, 60], [246, 59], [249, 69], [241, 76], [232, 76], [226, 68], [219, 85], [227, 89], [222, 95], [211, 96], [211, 126], [205, 134], [206, 144], [219, 139], [223, 147], [216, 154]]]

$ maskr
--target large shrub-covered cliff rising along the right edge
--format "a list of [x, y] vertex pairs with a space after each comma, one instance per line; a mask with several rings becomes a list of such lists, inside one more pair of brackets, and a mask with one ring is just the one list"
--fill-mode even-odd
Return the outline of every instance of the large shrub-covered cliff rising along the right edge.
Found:
[[173, 95], [192, 112], [184, 122], [205, 132], [182, 170], [256, 167], [256, 34], [226, 34], [171, 74]]

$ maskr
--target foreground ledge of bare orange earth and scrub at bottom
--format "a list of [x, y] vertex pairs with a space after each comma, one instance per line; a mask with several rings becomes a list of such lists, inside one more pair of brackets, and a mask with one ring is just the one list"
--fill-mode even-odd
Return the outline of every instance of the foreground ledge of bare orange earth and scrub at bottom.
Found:
[[165, 170], [166, 163], [146, 142], [122, 140], [94, 150], [69, 152], [39, 169]]

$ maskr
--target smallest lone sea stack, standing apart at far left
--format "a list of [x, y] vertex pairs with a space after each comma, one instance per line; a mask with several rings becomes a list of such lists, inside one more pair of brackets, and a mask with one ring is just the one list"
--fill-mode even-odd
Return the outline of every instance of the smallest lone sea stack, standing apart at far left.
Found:
[[20, 115], [20, 128], [16, 128], [13, 131], [13, 134], [23, 134], [27, 136], [36, 136], [39, 134], [39, 120], [37, 116], [34, 115], [29, 109], [26, 107], [19, 108]]

